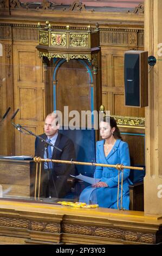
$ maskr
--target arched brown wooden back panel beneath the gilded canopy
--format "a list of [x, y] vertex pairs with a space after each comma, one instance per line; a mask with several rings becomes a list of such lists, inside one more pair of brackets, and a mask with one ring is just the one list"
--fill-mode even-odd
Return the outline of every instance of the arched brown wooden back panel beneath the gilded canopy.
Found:
[[63, 113], [63, 106], [69, 106], [69, 112], [90, 109], [89, 74], [78, 60], [65, 62], [57, 72], [57, 107]]

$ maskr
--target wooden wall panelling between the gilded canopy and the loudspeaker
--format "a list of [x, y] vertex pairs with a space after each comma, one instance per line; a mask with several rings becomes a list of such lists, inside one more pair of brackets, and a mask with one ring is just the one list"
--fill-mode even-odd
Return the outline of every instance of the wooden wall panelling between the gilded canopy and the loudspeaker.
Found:
[[119, 50], [117, 46], [108, 48], [104, 45], [101, 49], [103, 56], [102, 81], [104, 81], [102, 84], [103, 106], [106, 110], [111, 110], [112, 115], [145, 117], [145, 108], [125, 106], [124, 53], [127, 47], [122, 47]]

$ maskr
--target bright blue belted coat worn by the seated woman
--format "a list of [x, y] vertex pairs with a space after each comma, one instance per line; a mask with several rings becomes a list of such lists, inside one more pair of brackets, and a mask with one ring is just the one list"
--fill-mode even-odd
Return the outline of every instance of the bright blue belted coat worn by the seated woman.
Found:
[[[104, 153], [105, 140], [98, 141], [96, 143], [96, 163], [104, 164], [117, 164], [121, 163], [124, 166], [130, 166], [130, 157], [128, 144], [117, 139], [114, 147], [110, 153], [105, 157]], [[122, 207], [129, 210], [129, 185], [132, 182], [128, 179], [129, 169], [124, 169], [123, 175], [123, 191], [122, 191]], [[94, 173], [94, 178], [100, 179], [100, 181], [106, 182], [108, 187], [92, 186], [86, 187], [81, 195], [80, 202], [87, 204], [99, 204], [100, 207], [105, 208], [117, 208], [117, 193], [118, 193], [118, 170], [116, 168], [100, 167], [97, 166]], [[121, 172], [120, 172], [120, 191], [119, 191], [119, 208], [120, 208], [120, 196], [121, 196]]]

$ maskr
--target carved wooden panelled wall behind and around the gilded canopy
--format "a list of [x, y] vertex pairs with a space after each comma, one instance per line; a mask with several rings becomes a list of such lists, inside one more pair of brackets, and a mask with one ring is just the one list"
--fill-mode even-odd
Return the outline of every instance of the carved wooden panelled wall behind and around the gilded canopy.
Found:
[[[1, 1], [0, 42], [0, 116], [10, 106], [7, 120], [0, 124], [0, 154], [33, 155], [34, 138], [22, 135], [10, 124], [11, 114], [20, 108], [15, 123], [29, 130], [43, 132], [45, 118], [43, 64], [38, 57], [36, 45], [37, 22], [46, 20], [54, 28], [87, 29], [90, 25], [100, 28], [102, 54], [102, 104], [113, 115], [144, 117], [144, 108], [124, 106], [124, 52], [144, 50], [144, 13], [121, 10], [113, 13], [92, 10], [79, 3], [79, 7], [48, 4], [21, 4], [20, 1]], [[60, 74], [61, 75], [61, 74]], [[134, 137], [133, 137], [134, 138]], [[131, 140], [133, 139], [131, 138]]]

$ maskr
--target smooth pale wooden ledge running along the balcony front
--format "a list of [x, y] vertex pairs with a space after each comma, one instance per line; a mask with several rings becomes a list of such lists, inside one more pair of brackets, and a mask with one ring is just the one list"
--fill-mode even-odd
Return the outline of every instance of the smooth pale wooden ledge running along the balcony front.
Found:
[[43, 204], [31, 202], [17, 202], [10, 200], [0, 200], [0, 214], [3, 210], [15, 210], [26, 212], [42, 212], [44, 214], [61, 214], [61, 215], [75, 215], [75, 216], [89, 216], [89, 217], [104, 217], [113, 218], [115, 220], [134, 219], [134, 221], [158, 221], [162, 224], [162, 216], [160, 215], [146, 215], [142, 211], [128, 211], [116, 210], [107, 208], [74, 208], [72, 206], [64, 206], [60, 204]]

